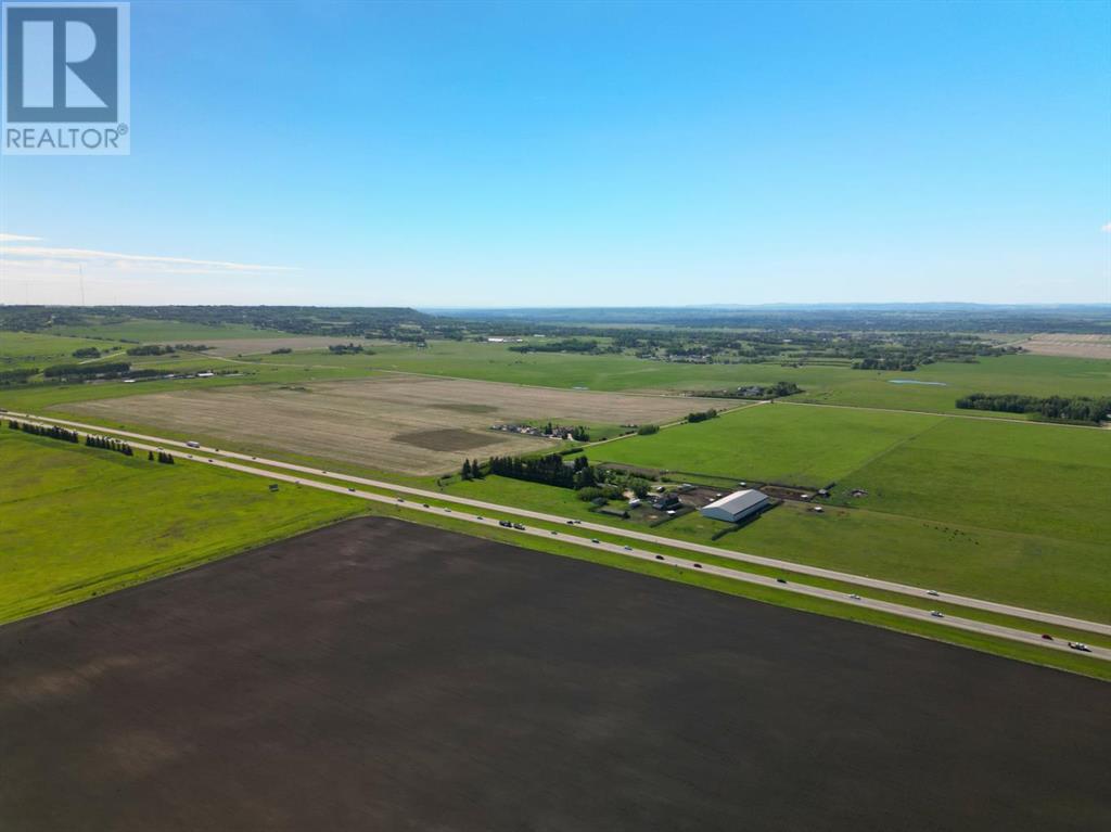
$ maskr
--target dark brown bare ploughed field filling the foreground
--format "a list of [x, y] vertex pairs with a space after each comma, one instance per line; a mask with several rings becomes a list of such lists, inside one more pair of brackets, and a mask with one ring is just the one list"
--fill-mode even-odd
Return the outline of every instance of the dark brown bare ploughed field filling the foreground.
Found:
[[0, 629], [6, 832], [1097, 830], [1102, 682], [362, 519]]

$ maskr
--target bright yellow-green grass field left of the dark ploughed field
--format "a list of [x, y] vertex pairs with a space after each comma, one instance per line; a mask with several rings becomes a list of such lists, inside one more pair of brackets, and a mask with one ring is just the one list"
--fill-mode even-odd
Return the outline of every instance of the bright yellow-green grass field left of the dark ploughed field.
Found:
[[359, 513], [363, 503], [0, 429], [0, 622]]

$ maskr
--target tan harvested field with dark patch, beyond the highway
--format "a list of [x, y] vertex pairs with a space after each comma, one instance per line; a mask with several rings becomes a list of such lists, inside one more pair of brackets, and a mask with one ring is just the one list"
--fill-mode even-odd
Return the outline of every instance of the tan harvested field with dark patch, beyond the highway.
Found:
[[303, 387], [244, 385], [81, 402], [67, 410], [183, 433], [341, 459], [410, 474], [457, 470], [467, 457], [556, 443], [494, 432], [497, 422], [654, 422], [702, 400], [548, 390], [484, 381], [383, 375]]

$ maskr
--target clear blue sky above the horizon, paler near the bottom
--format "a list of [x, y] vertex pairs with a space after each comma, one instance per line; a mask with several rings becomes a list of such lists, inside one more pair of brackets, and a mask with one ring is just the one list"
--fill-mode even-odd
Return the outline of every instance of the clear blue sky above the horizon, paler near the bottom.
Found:
[[[1111, 301], [1111, 3], [133, 2], [0, 300]], [[34, 239], [19, 239], [34, 238]]]

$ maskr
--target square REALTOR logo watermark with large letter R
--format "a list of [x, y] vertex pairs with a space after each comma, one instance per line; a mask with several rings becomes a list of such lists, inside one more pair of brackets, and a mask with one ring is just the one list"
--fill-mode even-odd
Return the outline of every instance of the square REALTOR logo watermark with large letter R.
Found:
[[129, 3], [3, 3], [10, 156], [131, 152]]

